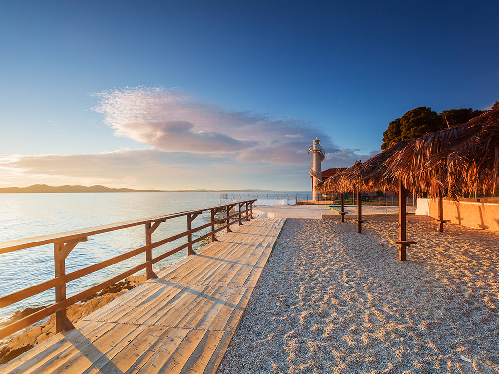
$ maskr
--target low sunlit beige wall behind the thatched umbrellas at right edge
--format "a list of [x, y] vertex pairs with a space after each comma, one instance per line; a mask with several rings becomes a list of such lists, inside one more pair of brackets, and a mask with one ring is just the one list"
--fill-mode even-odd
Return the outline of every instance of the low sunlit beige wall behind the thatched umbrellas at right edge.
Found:
[[[421, 201], [420, 201], [421, 200]], [[463, 226], [499, 231], [499, 204], [443, 201], [444, 219]], [[438, 218], [438, 199], [418, 199], [416, 213]]]

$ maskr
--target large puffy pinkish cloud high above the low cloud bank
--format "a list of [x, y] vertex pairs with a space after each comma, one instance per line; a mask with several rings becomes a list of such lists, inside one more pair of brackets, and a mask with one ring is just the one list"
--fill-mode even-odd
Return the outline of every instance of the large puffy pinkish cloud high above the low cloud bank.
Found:
[[241, 162], [294, 164], [305, 160], [297, 151], [316, 136], [334, 147], [305, 121], [227, 111], [177, 90], [136, 87], [96, 96], [100, 103], [93, 109], [117, 136], [165, 152], [231, 153]]

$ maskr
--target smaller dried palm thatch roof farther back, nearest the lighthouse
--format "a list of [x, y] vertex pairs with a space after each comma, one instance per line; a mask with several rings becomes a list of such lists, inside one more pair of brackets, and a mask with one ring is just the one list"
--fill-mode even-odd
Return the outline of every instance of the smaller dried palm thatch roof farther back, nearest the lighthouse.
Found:
[[335, 174], [318, 184], [321, 192], [352, 191], [358, 188], [372, 191], [384, 189], [385, 187], [396, 187], [397, 181], [384, 176], [387, 160], [395, 153], [403, 149], [409, 141], [402, 141], [389, 149], [377, 154], [364, 163], [357, 161], [352, 167]]

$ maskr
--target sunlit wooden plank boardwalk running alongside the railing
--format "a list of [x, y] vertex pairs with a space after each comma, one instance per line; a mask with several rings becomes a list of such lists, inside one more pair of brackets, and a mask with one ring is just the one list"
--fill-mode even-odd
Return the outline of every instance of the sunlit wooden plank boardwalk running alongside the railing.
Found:
[[0, 367], [0, 373], [214, 373], [284, 218], [258, 218]]

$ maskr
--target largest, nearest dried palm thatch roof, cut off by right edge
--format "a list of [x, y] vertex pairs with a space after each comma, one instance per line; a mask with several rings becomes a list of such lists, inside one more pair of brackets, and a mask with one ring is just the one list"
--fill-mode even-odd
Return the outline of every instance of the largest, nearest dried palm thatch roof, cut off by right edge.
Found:
[[445, 187], [452, 196], [458, 187], [493, 191], [499, 182], [499, 108], [414, 139], [387, 164], [384, 178], [433, 195]]

